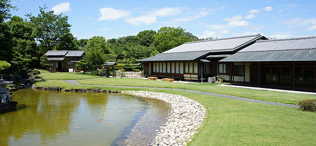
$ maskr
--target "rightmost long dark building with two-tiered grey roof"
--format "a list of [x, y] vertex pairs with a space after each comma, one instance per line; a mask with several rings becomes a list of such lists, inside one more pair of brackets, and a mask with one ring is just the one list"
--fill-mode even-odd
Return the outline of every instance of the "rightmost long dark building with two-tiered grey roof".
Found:
[[257, 40], [219, 65], [234, 83], [316, 89], [316, 37]]

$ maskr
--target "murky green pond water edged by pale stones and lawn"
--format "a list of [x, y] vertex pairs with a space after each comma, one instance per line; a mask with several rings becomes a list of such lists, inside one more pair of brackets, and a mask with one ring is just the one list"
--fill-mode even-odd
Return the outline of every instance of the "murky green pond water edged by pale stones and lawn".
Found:
[[23, 89], [17, 110], [0, 113], [0, 146], [146, 146], [169, 106], [113, 93]]

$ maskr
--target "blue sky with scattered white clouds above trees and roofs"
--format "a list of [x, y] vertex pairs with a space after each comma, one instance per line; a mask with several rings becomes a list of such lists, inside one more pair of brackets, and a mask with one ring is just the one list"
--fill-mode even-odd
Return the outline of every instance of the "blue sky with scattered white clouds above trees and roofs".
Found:
[[37, 16], [39, 6], [69, 16], [78, 39], [137, 35], [162, 26], [199, 38], [261, 34], [292, 38], [316, 36], [315, 0], [11, 0], [12, 15]]

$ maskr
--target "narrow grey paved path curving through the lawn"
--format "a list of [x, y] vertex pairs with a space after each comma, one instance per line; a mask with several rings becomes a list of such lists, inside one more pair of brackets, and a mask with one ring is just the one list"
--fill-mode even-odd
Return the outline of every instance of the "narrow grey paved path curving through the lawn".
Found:
[[[69, 84], [73, 84], [73, 85], [86, 85], [86, 84], [79, 84], [76, 80], [64, 80], [64, 81], [66, 81]], [[147, 88], [147, 89], [165, 89], [165, 90], [176, 90], [176, 91], [188, 91], [188, 92], [193, 92], [193, 93], [212, 95], [212, 96], [229, 98], [229, 99], [235, 99], [235, 100], [241, 100], [241, 101], [247, 101], [247, 102], [255, 102], [255, 103], [261, 103], [261, 104], [266, 104], [266, 105], [299, 108], [298, 105], [284, 104], [284, 103], [270, 102], [270, 101], [262, 101], [262, 100], [249, 99], [249, 98], [244, 98], [244, 97], [237, 97], [237, 96], [218, 94], [218, 93], [211, 93], [211, 92], [205, 92], [205, 91], [193, 91], [193, 90], [174, 89], [174, 88], [137, 87], [137, 86], [111, 86], [111, 85], [91, 85], [91, 86], [122, 87], [122, 88]]]

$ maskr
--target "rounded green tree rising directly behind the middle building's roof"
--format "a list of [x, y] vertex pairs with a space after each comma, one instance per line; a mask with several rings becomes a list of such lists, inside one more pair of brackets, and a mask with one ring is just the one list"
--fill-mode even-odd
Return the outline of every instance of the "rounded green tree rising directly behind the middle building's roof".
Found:
[[154, 36], [153, 44], [159, 53], [165, 52], [190, 41], [185, 29], [181, 27], [161, 27]]

